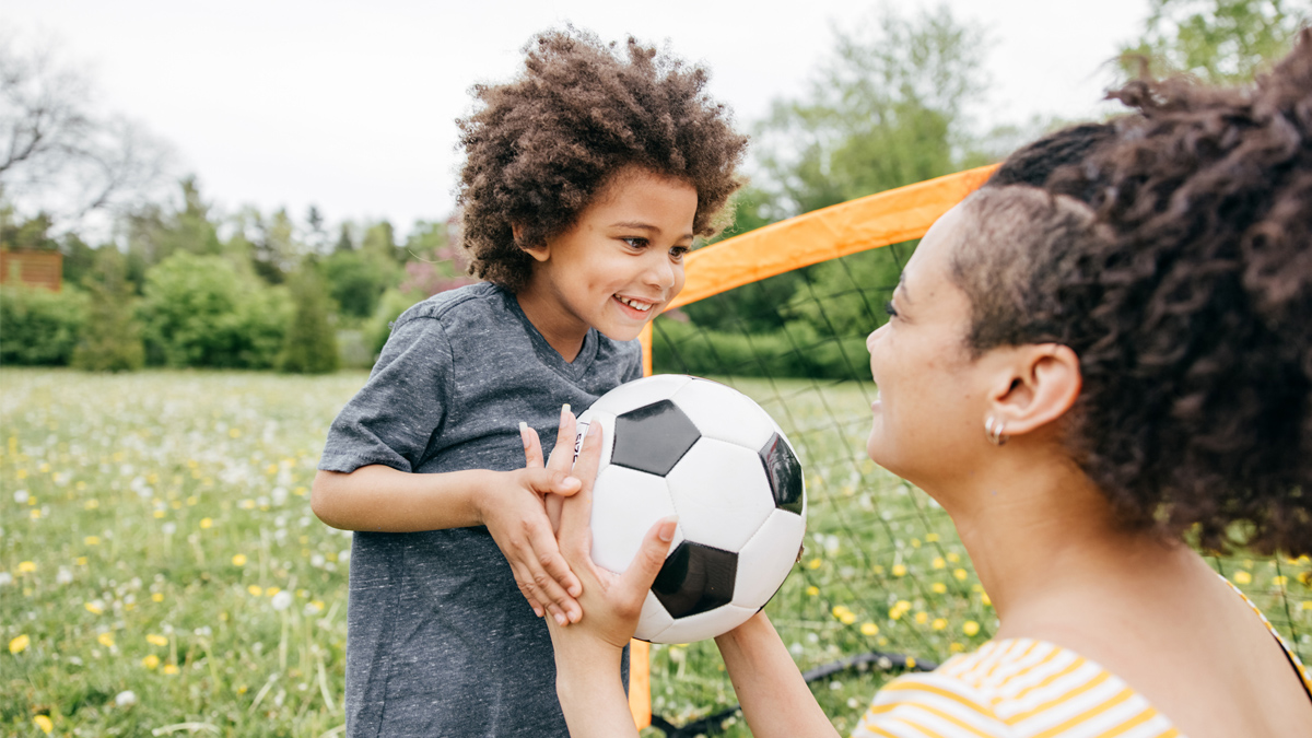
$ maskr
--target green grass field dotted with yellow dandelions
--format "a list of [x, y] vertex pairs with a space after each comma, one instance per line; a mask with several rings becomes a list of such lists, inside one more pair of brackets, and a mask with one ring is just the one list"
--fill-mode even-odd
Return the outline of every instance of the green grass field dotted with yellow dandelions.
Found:
[[[0, 370], [0, 734], [340, 734], [350, 536], [308, 486], [363, 381]], [[768, 608], [799, 667], [984, 642], [996, 617], [951, 523], [865, 458], [871, 387], [733, 383], [807, 466], [807, 553]], [[1312, 655], [1307, 559], [1216, 565]], [[895, 674], [812, 687], [846, 733]], [[736, 701], [711, 643], [655, 647], [652, 683], [674, 724]]]

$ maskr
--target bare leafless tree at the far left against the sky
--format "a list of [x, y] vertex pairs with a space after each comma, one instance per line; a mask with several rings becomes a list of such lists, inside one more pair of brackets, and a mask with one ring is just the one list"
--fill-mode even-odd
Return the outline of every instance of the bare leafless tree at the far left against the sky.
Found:
[[24, 54], [0, 38], [0, 193], [25, 213], [49, 214], [58, 230], [142, 202], [169, 165], [167, 144], [97, 110], [92, 93], [49, 49]]

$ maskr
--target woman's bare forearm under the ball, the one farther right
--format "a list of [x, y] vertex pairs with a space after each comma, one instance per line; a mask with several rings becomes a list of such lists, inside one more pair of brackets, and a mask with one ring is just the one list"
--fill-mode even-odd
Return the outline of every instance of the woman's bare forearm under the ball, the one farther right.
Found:
[[724, 658], [752, 735], [795, 738], [838, 734], [764, 612], [715, 638], [715, 645]]

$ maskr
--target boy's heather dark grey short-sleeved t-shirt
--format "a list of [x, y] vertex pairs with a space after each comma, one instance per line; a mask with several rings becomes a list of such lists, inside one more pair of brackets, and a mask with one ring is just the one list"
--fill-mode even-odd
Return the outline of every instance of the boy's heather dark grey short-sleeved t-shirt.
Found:
[[[560, 406], [583, 412], [642, 376], [638, 341], [588, 331], [573, 362], [513, 294], [438, 294], [392, 327], [319, 469], [421, 474], [523, 467], [518, 423], [550, 453]], [[346, 621], [346, 735], [567, 735], [546, 624], [487, 528], [357, 532]]]

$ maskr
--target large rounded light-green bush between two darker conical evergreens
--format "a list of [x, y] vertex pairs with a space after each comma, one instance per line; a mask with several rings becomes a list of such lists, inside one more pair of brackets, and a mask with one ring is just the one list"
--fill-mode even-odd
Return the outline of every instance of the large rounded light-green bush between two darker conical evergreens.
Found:
[[291, 311], [286, 288], [265, 286], [218, 256], [178, 252], [146, 273], [144, 293], [138, 313], [151, 364], [274, 365]]

